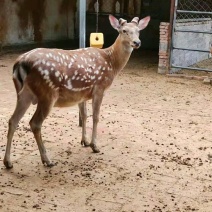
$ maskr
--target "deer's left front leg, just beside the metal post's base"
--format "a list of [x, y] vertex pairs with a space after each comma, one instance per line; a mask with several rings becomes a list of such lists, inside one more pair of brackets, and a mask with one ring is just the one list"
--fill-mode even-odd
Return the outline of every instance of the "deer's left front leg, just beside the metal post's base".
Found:
[[82, 146], [88, 147], [90, 146], [90, 143], [88, 142], [87, 136], [86, 136], [86, 120], [87, 120], [87, 108], [86, 108], [86, 102], [82, 102], [78, 104], [80, 116], [82, 119], [82, 140], [81, 144]]

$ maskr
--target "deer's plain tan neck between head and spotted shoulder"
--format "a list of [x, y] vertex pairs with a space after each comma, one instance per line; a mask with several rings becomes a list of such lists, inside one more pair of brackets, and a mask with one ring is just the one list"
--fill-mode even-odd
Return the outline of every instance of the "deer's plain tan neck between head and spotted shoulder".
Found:
[[115, 43], [107, 49], [115, 74], [121, 71], [128, 62], [133, 48], [119, 35]]

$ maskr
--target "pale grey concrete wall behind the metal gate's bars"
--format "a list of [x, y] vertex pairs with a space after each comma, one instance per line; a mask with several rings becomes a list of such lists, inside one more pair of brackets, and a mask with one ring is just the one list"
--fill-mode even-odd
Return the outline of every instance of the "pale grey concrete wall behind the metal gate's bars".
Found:
[[[211, 31], [212, 21], [184, 21], [176, 24], [176, 29]], [[209, 51], [212, 36], [203, 33], [175, 32], [173, 37], [174, 47], [201, 49]], [[202, 60], [208, 59], [209, 53], [177, 50], [173, 51], [172, 63], [177, 66], [191, 66]]]

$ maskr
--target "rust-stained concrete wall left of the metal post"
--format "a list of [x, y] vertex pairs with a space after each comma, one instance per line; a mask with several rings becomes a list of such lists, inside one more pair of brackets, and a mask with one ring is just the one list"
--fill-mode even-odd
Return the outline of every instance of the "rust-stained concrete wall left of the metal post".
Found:
[[0, 45], [73, 39], [77, 0], [0, 0]]

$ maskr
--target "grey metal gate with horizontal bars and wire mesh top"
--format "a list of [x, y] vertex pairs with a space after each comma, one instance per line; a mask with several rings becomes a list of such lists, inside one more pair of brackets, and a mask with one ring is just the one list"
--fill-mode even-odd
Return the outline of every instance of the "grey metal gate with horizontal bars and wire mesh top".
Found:
[[212, 1], [175, 0], [170, 66], [172, 71], [212, 71]]

